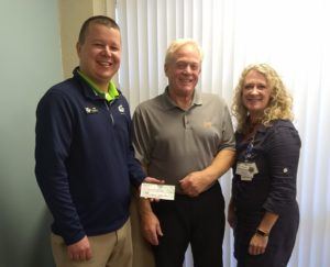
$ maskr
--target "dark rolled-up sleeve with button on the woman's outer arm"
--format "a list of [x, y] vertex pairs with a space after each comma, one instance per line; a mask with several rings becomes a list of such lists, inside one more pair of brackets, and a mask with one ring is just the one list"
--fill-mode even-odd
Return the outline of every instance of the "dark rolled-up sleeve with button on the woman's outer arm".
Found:
[[293, 125], [276, 126], [266, 143], [271, 188], [263, 208], [280, 215], [296, 201], [300, 138]]

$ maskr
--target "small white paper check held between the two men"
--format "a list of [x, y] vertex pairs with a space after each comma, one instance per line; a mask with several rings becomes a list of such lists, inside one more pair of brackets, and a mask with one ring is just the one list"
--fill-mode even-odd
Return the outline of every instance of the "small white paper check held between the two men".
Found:
[[140, 197], [174, 200], [175, 186], [142, 182]]

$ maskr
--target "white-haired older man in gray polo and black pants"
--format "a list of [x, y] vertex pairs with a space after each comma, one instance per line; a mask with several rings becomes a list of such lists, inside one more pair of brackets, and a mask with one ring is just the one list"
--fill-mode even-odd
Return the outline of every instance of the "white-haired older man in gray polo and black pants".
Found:
[[182, 267], [188, 244], [195, 266], [222, 266], [224, 200], [218, 179], [231, 167], [234, 136], [227, 104], [195, 90], [202, 53], [191, 40], [170, 44], [165, 92], [133, 116], [136, 158], [150, 176], [176, 186], [174, 201], [141, 200], [144, 237], [157, 267]]

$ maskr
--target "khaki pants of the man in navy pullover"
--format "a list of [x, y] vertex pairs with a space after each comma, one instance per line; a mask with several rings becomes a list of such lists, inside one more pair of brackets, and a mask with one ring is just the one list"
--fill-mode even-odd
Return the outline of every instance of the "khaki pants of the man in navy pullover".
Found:
[[[88, 236], [92, 258], [86, 262], [70, 260], [64, 240], [51, 235], [52, 249], [57, 267], [132, 267], [131, 222], [109, 234]], [[146, 266], [145, 266], [146, 267]]]

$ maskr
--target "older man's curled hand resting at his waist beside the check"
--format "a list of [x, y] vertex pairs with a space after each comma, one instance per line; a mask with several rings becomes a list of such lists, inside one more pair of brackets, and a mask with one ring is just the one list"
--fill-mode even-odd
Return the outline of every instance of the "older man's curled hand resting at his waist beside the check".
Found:
[[202, 170], [190, 173], [185, 178], [179, 180], [184, 193], [188, 194], [189, 197], [197, 197], [199, 193], [209, 189], [212, 182], [213, 179], [205, 175]]

